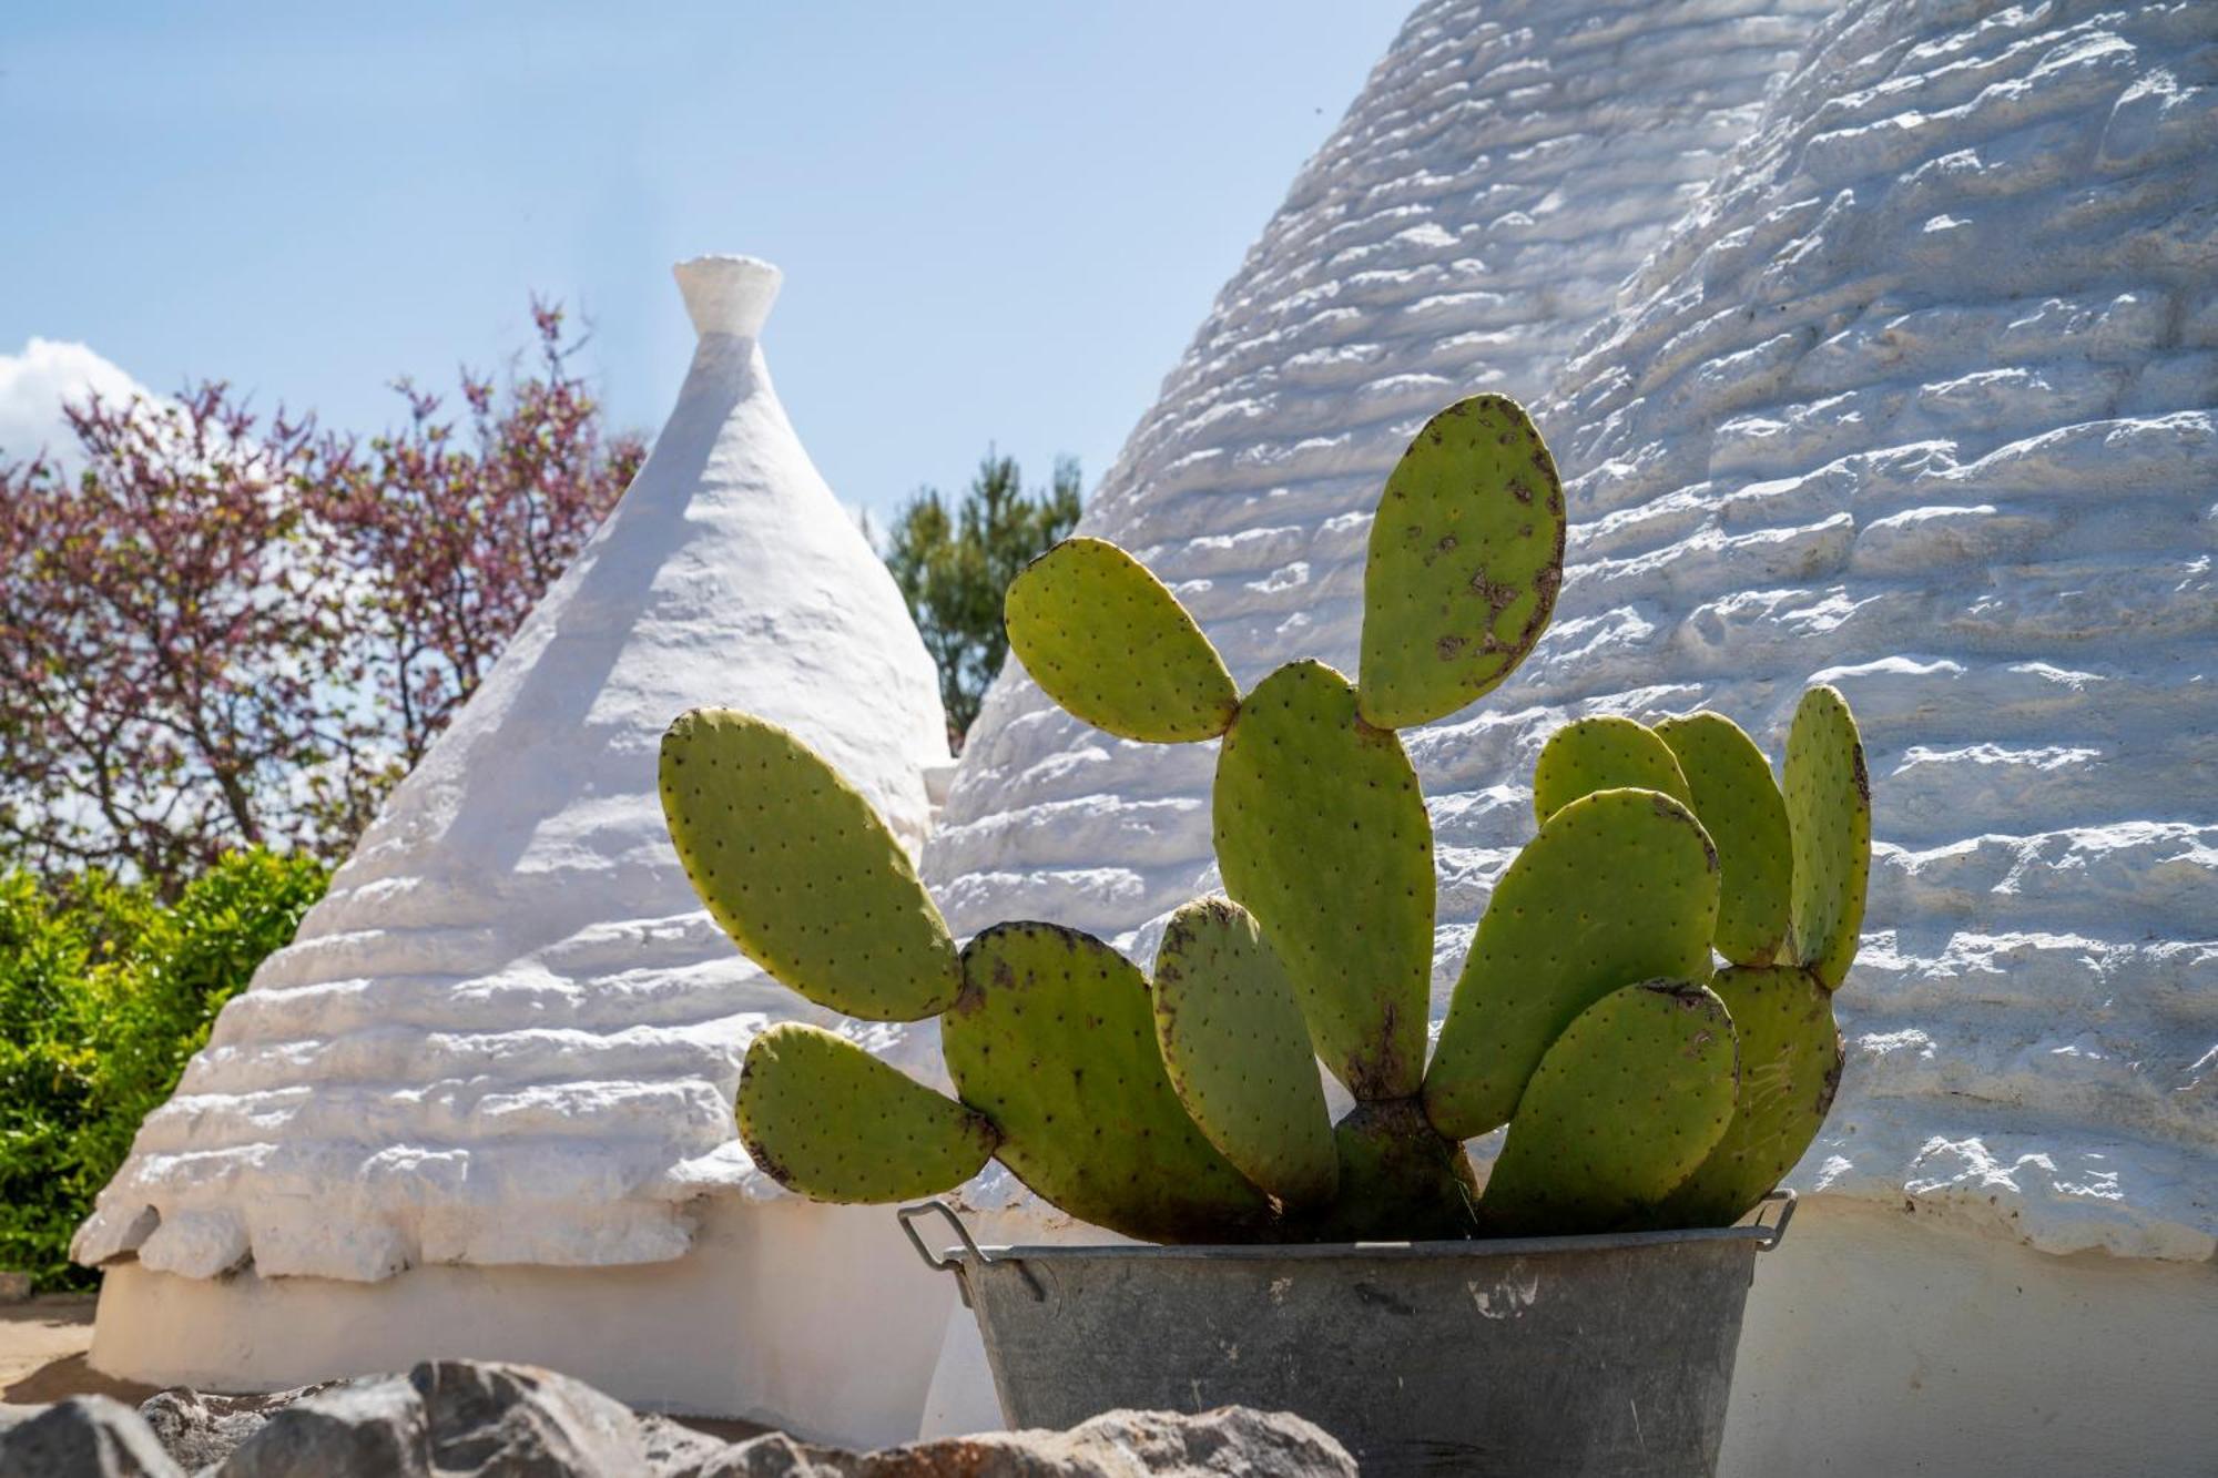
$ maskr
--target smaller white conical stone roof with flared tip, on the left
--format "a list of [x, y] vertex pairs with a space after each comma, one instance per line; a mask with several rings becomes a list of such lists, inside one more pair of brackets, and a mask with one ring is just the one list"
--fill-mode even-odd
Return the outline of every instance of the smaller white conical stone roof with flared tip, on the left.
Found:
[[912, 846], [938, 681], [763, 364], [779, 271], [676, 269], [699, 348], [639, 477], [231, 1001], [78, 1234], [100, 1263], [381, 1278], [679, 1256], [745, 1183], [747, 1039], [807, 1014], [710, 923], [657, 743], [728, 703], [794, 728]]

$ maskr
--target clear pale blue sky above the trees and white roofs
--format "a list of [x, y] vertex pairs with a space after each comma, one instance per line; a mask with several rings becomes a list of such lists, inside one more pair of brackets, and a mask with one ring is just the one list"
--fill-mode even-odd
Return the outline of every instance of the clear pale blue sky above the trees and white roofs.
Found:
[[989, 439], [1091, 490], [1404, 9], [9, 7], [0, 355], [82, 342], [370, 431], [395, 373], [521, 346], [539, 291], [652, 431], [692, 342], [670, 262], [747, 251], [845, 502], [956, 486]]

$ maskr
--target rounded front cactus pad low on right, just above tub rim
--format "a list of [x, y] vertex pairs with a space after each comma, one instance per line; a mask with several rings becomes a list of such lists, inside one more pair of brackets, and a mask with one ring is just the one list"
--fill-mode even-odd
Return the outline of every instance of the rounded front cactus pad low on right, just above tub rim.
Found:
[[1710, 990], [1688, 981], [1612, 990], [1533, 1072], [1479, 1218], [1495, 1236], [1626, 1225], [1726, 1134], [1732, 1087], [1732, 1019]]

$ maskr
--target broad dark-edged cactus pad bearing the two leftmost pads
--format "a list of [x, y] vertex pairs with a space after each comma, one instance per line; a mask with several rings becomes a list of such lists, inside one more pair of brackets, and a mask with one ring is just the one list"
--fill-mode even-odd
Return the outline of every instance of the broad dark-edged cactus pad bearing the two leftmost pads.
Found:
[[963, 1103], [1000, 1130], [1000, 1163], [1098, 1227], [1160, 1243], [1253, 1241], [1269, 1201], [1178, 1103], [1147, 981], [1051, 923], [1003, 923], [963, 950], [940, 1019]]

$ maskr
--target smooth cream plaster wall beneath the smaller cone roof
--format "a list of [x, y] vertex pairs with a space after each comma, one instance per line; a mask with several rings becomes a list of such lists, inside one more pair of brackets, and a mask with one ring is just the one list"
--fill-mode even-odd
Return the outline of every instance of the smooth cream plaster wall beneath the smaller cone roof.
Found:
[[91, 1360], [146, 1385], [277, 1391], [426, 1358], [523, 1360], [652, 1411], [876, 1447], [916, 1436], [956, 1307], [878, 1207], [716, 1198], [681, 1258], [430, 1263], [381, 1283], [118, 1263]]

